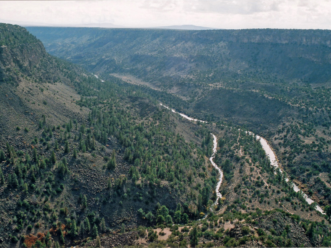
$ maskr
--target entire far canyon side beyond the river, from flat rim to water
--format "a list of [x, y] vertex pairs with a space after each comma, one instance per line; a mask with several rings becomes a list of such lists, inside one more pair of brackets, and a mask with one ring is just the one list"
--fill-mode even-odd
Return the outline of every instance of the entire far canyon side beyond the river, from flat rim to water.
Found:
[[28, 29], [104, 79], [261, 134], [305, 192], [331, 203], [330, 30]]

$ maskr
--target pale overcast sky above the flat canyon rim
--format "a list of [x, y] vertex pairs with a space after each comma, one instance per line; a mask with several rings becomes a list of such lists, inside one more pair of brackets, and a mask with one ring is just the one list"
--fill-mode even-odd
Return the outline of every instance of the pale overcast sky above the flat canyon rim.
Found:
[[128, 27], [191, 24], [225, 29], [331, 29], [331, 0], [1, 1], [0, 21], [53, 25], [108, 22]]

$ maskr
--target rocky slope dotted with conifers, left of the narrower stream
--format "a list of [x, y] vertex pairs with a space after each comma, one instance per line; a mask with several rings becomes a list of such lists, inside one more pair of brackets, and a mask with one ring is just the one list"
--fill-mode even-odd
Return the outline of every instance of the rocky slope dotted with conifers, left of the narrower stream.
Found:
[[205, 211], [217, 176], [206, 127], [48, 55], [22, 27], [0, 30], [0, 247], [74, 245]]

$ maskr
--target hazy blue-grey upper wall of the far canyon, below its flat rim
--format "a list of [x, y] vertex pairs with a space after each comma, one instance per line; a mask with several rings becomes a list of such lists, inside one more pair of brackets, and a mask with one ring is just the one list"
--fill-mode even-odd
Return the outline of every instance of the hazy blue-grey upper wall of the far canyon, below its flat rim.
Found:
[[[157, 75], [159, 82], [166, 76], [207, 83], [224, 81], [226, 75], [252, 80], [256, 75], [249, 74], [256, 72], [279, 78], [310, 78], [310, 82], [330, 80], [329, 30], [28, 30], [52, 54], [99, 73], [118, 70], [145, 80], [155, 80]], [[95, 56], [96, 51], [104, 57]], [[207, 73], [212, 75], [206, 77]]]

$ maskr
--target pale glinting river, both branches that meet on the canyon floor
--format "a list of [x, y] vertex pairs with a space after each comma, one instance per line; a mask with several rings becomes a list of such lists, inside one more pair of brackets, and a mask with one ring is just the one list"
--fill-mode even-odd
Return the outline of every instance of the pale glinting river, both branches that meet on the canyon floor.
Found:
[[[207, 123], [207, 121], [202, 121], [202, 120], [194, 119], [194, 118], [191, 118], [191, 117], [189, 117], [189, 116], [187, 116], [187, 115], [185, 115], [185, 114], [178, 113], [178, 112], [176, 112], [174, 109], [171, 109], [171, 108], [165, 106], [165, 105], [162, 104], [162, 103], [160, 103], [160, 105], [161, 105], [161, 106], [164, 106], [164, 107], [167, 108], [167, 109], [170, 109], [173, 113], [177, 113], [177, 114], [181, 115], [182, 117], [184, 117], [185, 119], [188, 119], [188, 120], [190, 120], [190, 121], [200, 121], [200, 122], [206, 122], [206, 123]], [[238, 129], [238, 130], [239, 130], [239, 131], [242, 131], [242, 130], [240, 130], [240, 129]], [[245, 132], [246, 132], [246, 134], [248, 133], [249, 135], [253, 135], [253, 136], [255, 136], [256, 139], [260, 141], [260, 144], [261, 144], [263, 150], [265, 151], [265, 154], [268, 156], [268, 158], [269, 158], [269, 160], [270, 160], [270, 164], [271, 164], [272, 166], [274, 166], [275, 168], [279, 168], [279, 164], [278, 164], [278, 162], [277, 162], [276, 155], [275, 155], [275, 153], [273, 152], [273, 150], [271, 149], [270, 145], [267, 143], [267, 141], [266, 141], [264, 138], [260, 137], [259, 135], [255, 135], [255, 134], [252, 133], [252, 132], [249, 132], [249, 131], [245, 131]], [[215, 169], [218, 170], [219, 175], [220, 175], [220, 176], [219, 176], [218, 183], [217, 183], [217, 185], [216, 185], [216, 195], [217, 195], [217, 198], [216, 198], [216, 201], [214, 202], [214, 204], [217, 204], [217, 200], [218, 200], [219, 198], [222, 197], [222, 194], [219, 192], [219, 188], [220, 188], [221, 183], [222, 183], [223, 172], [222, 172], [222, 170], [216, 165], [216, 163], [213, 161], [213, 159], [215, 158], [215, 154], [216, 154], [216, 152], [217, 152], [217, 139], [216, 139], [216, 136], [215, 136], [214, 134], [211, 134], [211, 135], [213, 136], [213, 154], [212, 154], [212, 156], [209, 158], [209, 160], [211, 161], [211, 163], [212, 163], [212, 165], [215, 167]], [[283, 173], [283, 171], [282, 171], [280, 168], [279, 168], [279, 171], [280, 171], [281, 173]], [[276, 173], [277, 173], [277, 172], [275, 172], [275, 174], [276, 174]], [[284, 176], [284, 174], [283, 174], [283, 176]], [[285, 181], [286, 181], [286, 182], [289, 182], [289, 178], [286, 177]], [[292, 184], [292, 187], [293, 187], [293, 189], [294, 189], [295, 192], [299, 192], [299, 191], [301, 191], [300, 188], [299, 188], [295, 183], [291, 182], [291, 184]], [[312, 199], [310, 199], [310, 198], [307, 196], [307, 194], [303, 193], [302, 191], [301, 191], [301, 193], [302, 193], [303, 198], [306, 200], [306, 202], [307, 202], [309, 205], [312, 204], [312, 203], [314, 202]], [[318, 212], [320, 212], [320, 213], [322, 213], [322, 214], [325, 214], [324, 211], [322, 210], [322, 208], [321, 208], [320, 206], [318, 206], [317, 204], [315, 205], [315, 209], [316, 209]], [[206, 218], [206, 217], [207, 217], [207, 216], [205, 216], [204, 218]]]

